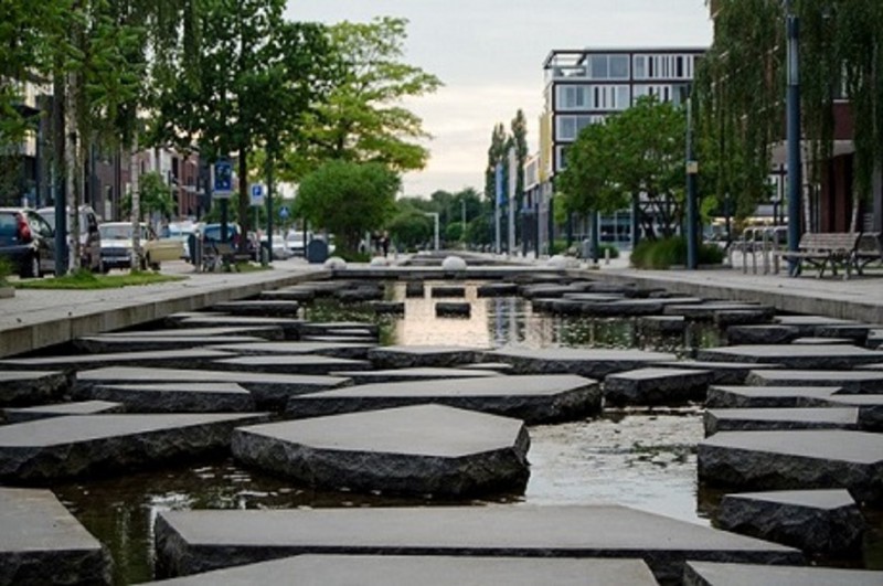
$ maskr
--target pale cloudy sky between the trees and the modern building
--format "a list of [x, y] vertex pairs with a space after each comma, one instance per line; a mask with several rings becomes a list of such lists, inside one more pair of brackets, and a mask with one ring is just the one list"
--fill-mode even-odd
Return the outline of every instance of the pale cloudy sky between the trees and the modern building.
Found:
[[427, 167], [404, 177], [405, 195], [485, 187], [494, 125], [524, 110], [538, 148], [543, 62], [554, 49], [708, 46], [705, 0], [288, 0], [290, 20], [408, 20], [403, 61], [438, 76], [435, 94], [405, 106], [432, 135]]

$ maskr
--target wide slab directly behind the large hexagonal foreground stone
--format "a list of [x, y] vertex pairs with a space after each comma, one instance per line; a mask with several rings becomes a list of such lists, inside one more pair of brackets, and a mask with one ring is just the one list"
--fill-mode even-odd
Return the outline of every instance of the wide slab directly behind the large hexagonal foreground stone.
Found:
[[574, 420], [598, 413], [597, 382], [573, 374], [485, 376], [350, 386], [291, 397], [291, 417], [315, 417], [435, 403], [517, 417], [529, 424]]

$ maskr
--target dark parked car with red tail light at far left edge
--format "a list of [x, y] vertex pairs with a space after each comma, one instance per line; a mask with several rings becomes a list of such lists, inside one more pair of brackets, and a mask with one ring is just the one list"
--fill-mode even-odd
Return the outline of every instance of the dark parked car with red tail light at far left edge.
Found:
[[0, 258], [22, 278], [55, 270], [55, 233], [34, 210], [0, 207]]

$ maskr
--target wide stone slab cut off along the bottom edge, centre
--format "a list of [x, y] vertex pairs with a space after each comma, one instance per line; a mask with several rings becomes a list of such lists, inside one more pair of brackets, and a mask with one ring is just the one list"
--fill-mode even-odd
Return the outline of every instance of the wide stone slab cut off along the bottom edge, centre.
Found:
[[657, 586], [641, 560], [541, 560], [421, 555], [298, 555], [175, 578], [166, 586]]

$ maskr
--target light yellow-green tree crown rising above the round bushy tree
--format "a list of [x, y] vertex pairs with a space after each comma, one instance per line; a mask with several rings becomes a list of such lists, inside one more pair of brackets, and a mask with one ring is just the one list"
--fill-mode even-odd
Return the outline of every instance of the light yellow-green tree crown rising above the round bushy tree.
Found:
[[328, 102], [307, 116], [306, 148], [288, 152], [289, 178], [329, 159], [381, 162], [397, 171], [426, 166], [429, 152], [416, 141], [428, 135], [401, 102], [433, 93], [442, 82], [401, 62], [406, 25], [404, 19], [380, 18], [331, 26], [340, 56], [337, 83]]

